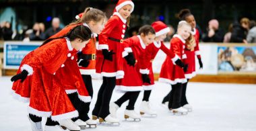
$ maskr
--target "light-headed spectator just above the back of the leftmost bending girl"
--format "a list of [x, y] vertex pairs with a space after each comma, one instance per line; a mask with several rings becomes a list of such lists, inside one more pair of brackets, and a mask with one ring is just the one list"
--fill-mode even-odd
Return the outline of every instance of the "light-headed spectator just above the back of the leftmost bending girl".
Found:
[[47, 39], [50, 36], [53, 36], [54, 34], [59, 32], [61, 30], [61, 28], [59, 28], [59, 24], [59, 17], [54, 17], [52, 21], [52, 27], [46, 30], [44, 38]]

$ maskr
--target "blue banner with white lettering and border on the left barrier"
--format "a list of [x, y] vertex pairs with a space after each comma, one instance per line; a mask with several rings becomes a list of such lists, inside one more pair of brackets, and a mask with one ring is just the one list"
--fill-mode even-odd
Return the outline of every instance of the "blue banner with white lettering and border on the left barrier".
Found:
[[42, 42], [5, 42], [3, 46], [3, 68], [19, 69], [24, 56], [41, 44]]

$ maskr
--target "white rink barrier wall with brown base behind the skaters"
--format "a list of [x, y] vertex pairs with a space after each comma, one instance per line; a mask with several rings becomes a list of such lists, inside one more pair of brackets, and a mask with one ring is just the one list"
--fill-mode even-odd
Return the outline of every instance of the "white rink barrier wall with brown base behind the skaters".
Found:
[[[30, 44], [32, 46], [34, 46], [36, 43], [37, 45], [39, 45], [42, 42], [13, 42], [13, 41], [9, 41], [9, 42], [5, 42], [5, 43], [14, 43], [14, 44], [22, 44], [24, 45], [24, 43], [26, 44]], [[170, 47], [169, 42], [165, 42], [164, 43], [165, 46], [167, 48]], [[241, 49], [243, 50], [243, 48], [253, 48], [254, 51], [254, 56], [253, 56], [253, 60], [255, 60], [256, 56], [256, 44], [238, 44], [238, 43], [228, 43], [228, 44], [224, 44], [224, 43], [200, 43], [200, 52], [201, 52], [201, 57], [202, 57], [202, 61], [203, 61], [203, 70], [199, 70], [199, 65], [197, 62], [197, 58], [195, 58], [196, 60], [196, 70], [197, 70], [197, 75], [195, 77], [193, 77], [193, 79], [191, 79], [191, 81], [194, 82], [214, 82], [214, 83], [253, 83], [256, 84], [256, 71], [247, 71], [247, 72], [241, 72], [241, 71], [232, 71], [232, 72], [227, 72], [227, 71], [219, 71], [218, 69], [218, 56], [220, 56], [218, 54], [218, 51], [220, 51], [221, 49], [224, 48], [238, 48], [237, 52], [239, 52]], [[16, 69], [12, 69], [12, 68], [5, 68], [6, 66], [4, 66], [3, 64], [5, 64], [5, 60], [3, 60], [5, 58], [5, 54], [3, 53], [3, 50], [5, 50], [4, 48], [4, 44], [3, 41], [0, 41], [0, 76], [1, 75], [15, 75], [18, 66], [16, 66]], [[159, 73], [160, 73], [160, 69], [161, 69], [161, 65], [162, 62], [164, 62], [164, 59], [166, 58], [166, 55], [160, 50], [160, 52], [158, 52], [154, 62], [153, 62], [153, 71], [155, 73], [154, 77], [155, 80], [158, 81], [158, 77], [159, 77]], [[207, 61], [208, 62], [205, 62]], [[237, 63], [236, 63], [237, 64]], [[256, 65], [256, 63], [255, 63]], [[5, 68], [5, 69], [3, 69]]]

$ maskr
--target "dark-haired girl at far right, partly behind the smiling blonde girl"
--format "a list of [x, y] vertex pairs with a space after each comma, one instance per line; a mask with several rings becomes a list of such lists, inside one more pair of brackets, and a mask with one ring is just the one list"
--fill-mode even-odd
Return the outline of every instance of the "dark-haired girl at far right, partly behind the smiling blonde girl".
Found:
[[[195, 41], [192, 43], [186, 43], [185, 46], [185, 54], [187, 58], [184, 59], [185, 64], [188, 65], [187, 72], [185, 72], [185, 77], [187, 79], [187, 83], [189, 79], [195, 77], [195, 55], [197, 56], [199, 62], [199, 68], [203, 68], [203, 63], [201, 62], [201, 55], [199, 52], [199, 31], [195, 28], [196, 21], [193, 14], [189, 11], [189, 9], [182, 9], [179, 13], [179, 19], [187, 21], [192, 27], [192, 35], [194, 36]], [[189, 112], [192, 111], [192, 106], [187, 102], [186, 91], [187, 91], [187, 83], [183, 83], [183, 90], [181, 95], [181, 106], [187, 109]], [[172, 91], [164, 97], [162, 103], [165, 103], [169, 100], [170, 96], [172, 96]]]

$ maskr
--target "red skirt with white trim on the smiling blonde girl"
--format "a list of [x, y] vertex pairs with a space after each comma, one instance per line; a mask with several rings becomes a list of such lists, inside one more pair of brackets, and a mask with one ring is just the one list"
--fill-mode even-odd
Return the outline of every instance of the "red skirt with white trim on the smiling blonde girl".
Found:
[[164, 63], [162, 64], [159, 81], [175, 85], [177, 83], [186, 83], [187, 79], [185, 78], [183, 69], [177, 65], [174, 65], [172, 60], [169, 57], [166, 57]]

